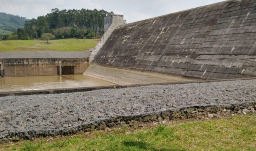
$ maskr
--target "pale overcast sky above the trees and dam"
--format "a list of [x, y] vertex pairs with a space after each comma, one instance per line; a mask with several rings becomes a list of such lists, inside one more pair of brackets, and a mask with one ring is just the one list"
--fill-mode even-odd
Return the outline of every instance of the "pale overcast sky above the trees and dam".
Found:
[[31, 19], [46, 15], [53, 8], [103, 9], [124, 15], [131, 23], [220, 1], [223, 0], [0, 0], [0, 12]]

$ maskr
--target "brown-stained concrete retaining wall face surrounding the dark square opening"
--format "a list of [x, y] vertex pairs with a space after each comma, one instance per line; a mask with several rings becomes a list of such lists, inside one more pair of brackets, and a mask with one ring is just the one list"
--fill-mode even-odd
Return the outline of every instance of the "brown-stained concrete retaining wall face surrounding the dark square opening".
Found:
[[88, 58], [29, 58], [1, 59], [5, 77], [58, 75], [58, 66], [74, 66], [74, 74], [83, 74], [89, 66]]

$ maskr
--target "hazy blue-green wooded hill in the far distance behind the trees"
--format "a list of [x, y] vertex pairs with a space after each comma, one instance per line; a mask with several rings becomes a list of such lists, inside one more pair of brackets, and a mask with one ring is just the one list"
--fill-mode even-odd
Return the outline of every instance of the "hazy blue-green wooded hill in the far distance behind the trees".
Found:
[[0, 12], [0, 29], [14, 32], [16, 28], [23, 28], [29, 19]]

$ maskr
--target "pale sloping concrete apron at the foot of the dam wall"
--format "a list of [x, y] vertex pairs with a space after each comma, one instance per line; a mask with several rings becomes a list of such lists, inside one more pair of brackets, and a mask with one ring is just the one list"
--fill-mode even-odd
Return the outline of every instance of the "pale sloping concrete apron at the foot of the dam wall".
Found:
[[156, 72], [142, 72], [120, 68], [102, 67], [97, 65], [90, 65], [84, 74], [90, 77], [115, 83], [117, 85], [201, 81], [201, 79], [186, 78], [177, 75], [168, 75]]

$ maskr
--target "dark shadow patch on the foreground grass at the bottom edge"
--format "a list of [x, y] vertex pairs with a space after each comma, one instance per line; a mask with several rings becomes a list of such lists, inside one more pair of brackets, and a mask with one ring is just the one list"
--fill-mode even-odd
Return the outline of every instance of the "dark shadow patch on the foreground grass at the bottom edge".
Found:
[[127, 147], [136, 147], [140, 150], [149, 150], [149, 151], [185, 151], [185, 150], [175, 150], [175, 149], [155, 149], [150, 147], [150, 145], [144, 141], [124, 141], [123, 144]]

